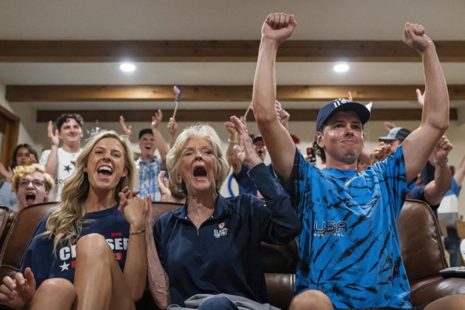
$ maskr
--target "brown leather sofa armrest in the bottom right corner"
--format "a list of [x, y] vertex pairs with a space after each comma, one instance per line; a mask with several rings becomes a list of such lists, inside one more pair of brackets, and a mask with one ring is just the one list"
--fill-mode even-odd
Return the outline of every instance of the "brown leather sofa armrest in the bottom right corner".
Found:
[[441, 297], [465, 294], [465, 279], [430, 277], [411, 282], [410, 290], [410, 302], [418, 306]]

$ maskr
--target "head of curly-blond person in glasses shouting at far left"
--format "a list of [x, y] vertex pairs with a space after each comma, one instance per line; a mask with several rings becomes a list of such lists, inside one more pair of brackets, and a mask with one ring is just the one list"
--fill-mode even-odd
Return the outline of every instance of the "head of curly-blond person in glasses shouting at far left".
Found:
[[16, 193], [18, 211], [32, 204], [47, 202], [48, 194], [55, 185], [44, 166], [38, 164], [17, 166], [11, 183]]

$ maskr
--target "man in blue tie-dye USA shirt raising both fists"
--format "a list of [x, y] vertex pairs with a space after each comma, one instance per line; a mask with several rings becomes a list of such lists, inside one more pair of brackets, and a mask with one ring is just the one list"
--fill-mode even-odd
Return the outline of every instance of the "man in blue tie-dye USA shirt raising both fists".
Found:
[[[434, 43], [422, 26], [405, 24], [403, 41], [420, 53], [425, 70], [420, 127], [386, 160], [358, 173], [370, 112], [358, 103], [334, 100], [317, 117], [317, 154], [327, 167], [319, 170], [296, 150], [274, 109], [276, 53], [295, 27], [289, 14], [266, 18], [252, 96], [273, 167], [290, 189], [302, 222], [296, 239], [297, 296], [290, 309], [412, 309], [396, 218], [449, 125], [449, 96]], [[414, 309], [465, 309], [465, 299], [448, 296]]]

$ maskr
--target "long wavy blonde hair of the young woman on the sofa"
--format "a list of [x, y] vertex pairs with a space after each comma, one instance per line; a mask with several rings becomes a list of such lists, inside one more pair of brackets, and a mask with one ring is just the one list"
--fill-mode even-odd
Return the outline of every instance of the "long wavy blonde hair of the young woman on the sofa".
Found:
[[62, 189], [61, 202], [47, 219], [47, 231], [39, 235], [51, 238], [53, 236], [53, 252], [56, 254], [57, 248], [65, 240], [70, 247], [73, 239], [77, 239], [82, 231], [82, 218], [86, 214], [84, 202], [89, 193], [90, 184], [87, 172], [89, 155], [95, 144], [105, 138], [118, 140], [124, 148], [124, 168], [127, 169], [127, 176], [122, 177], [115, 188], [115, 200], [120, 201], [118, 193], [125, 187], [133, 188], [137, 180], [137, 168], [134, 163], [134, 153], [131, 151], [131, 143], [125, 136], [119, 136], [114, 131], [106, 131], [90, 138], [81, 154], [76, 160], [76, 171], [65, 181]]

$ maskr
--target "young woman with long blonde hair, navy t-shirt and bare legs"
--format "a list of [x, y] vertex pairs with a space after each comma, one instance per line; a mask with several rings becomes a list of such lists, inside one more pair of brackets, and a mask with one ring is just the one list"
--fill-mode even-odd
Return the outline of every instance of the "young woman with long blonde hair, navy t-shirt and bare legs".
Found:
[[60, 205], [36, 229], [21, 272], [3, 279], [0, 300], [16, 309], [135, 309], [146, 286], [147, 210], [131, 195], [118, 208], [136, 178], [126, 138], [93, 137]]

